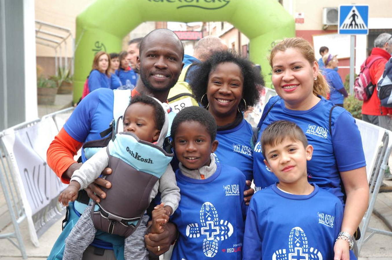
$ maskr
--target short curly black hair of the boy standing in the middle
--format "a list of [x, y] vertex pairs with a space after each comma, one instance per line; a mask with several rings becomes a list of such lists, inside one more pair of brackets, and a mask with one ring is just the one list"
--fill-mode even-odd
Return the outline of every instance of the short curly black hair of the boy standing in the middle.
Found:
[[207, 132], [211, 136], [211, 142], [216, 137], [216, 121], [215, 118], [204, 108], [201, 107], [186, 107], [182, 109], [173, 119], [171, 126], [171, 137], [176, 137], [177, 128], [183, 122], [196, 121], [205, 126]]

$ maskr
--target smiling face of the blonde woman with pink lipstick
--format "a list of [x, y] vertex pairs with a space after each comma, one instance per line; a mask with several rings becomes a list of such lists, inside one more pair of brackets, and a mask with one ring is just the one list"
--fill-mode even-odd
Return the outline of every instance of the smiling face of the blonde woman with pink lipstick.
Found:
[[319, 97], [313, 94], [318, 63], [312, 64], [296, 48], [276, 52], [272, 58], [272, 84], [276, 93], [293, 110], [307, 110], [316, 105]]

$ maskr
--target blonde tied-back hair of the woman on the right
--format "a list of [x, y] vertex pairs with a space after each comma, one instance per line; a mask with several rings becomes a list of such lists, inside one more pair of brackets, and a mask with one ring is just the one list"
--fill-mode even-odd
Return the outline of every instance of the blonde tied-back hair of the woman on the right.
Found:
[[[276, 45], [272, 48], [269, 58], [270, 66], [272, 67], [272, 59], [278, 51], [286, 51], [289, 48], [295, 48], [300, 51], [305, 59], [309, 61], [310, 65], [313, 65], [316, 61], [314, 49], [307, 40], [303, 38], [285, 38], [283, 41], [276, 43]], [[330, 88], [327, 81], [321, 72], [318, 71], [317, 79], [313, 84], [313, 94], [316, 96], [319, 95], [327, 97], [329, 91]]]

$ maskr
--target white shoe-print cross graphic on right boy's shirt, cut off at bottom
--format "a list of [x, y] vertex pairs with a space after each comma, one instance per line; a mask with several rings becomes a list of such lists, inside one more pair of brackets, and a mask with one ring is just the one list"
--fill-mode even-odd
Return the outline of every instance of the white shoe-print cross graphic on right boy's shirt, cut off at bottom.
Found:
[[308, 238], [301, 227], [293, 227], [289, 235], [289, 250], [286, 248], [276, 250], [272, 260], [323, 260], [318, 249], [309, 247]]

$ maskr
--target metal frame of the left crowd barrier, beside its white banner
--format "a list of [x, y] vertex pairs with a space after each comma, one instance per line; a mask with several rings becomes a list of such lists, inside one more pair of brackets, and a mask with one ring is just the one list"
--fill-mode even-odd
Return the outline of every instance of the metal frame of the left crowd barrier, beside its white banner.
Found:
[[[48, 118], [48, 117], [53, 117], [53, 121], [56, 124], [56, 127], [58, 128], [58, 130], [60, 131], [61, 127], [59, 127], [58, 123], [56, 122], [56, 116], [58, 116], [60, 114], [72, 112], [73, 109], [74, 109], [73, 107], [66, 108], [66, 109], [54, 112], [52, 114], [48, 114], [48, 115], [42, 117], [42, 119]], [[26, 254], [25, 246], [24, 246], [24, 243], [22, 240], [22, 235], [20, 233], [19, 224], [26, 218], [26, 215], [24, 212], [24, 206], [23, 206], [22, 199], [20, 196], [20, 191], [18, 189], [18, 184], [15, 179], [16, 174], [19, 174], [19, 173], [16, 173], [13, 168], [13, 165], [12, 165], [10, 157], [9, 157], [10, 155], [7, 152], [7, 150], [5, 149], [5, 145], [3, 143], [2, 137], [5, 135], [6, 131], [27, 128], [29, 126], [32, 126], [32, 125], [40, 122], [42, 119], [36, 119], [33, 121], [20, 123], [18, 125], [15, 125], [11, 128], [8, 128], [8, 129], [0, 132], [0, 161], [2, 164], [0, 167], [0, 183], [1, 183], [1, 188], [3, 190], [3, 193], [4, 193], [5, 202], [8, 207], [9, 215], [11, 217], [11, 222], [8, 224], [12, 223], [12, 225], [14, 227], [13, 232], [4, 233], [4, 234], [0, 233], [0, 239], [5, 238], [5, 239], [9, 240], [15, 247], [17, 247], [20, 250], [20, 253], [22, 254], [23, 259], [27, 259], [27, 254]], [[6, 224], [5, 226], [8, 226], [8, 224]], [[16, 242], [14, 241], [15, 238], [16, 238]]]

